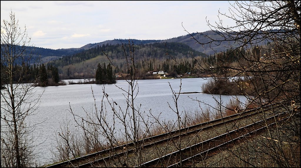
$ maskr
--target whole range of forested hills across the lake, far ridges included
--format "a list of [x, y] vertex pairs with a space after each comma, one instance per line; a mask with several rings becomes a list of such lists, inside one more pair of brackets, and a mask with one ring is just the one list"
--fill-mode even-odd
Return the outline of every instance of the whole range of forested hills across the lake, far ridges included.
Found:
[[[207, 44], [210, 38], [216, 39], [216, 41]], [[196, 40], [205, 44], [200, 45]], [[128, 52], [129, 41], [135, 45], [135, 63], [138, 76], [143, 76], [147, 71], [160, 70], [176, 72], [176, 74], [185, 73], [191, 71], [188, 70], [189, 67], [193, 67], [197, 61], [192, 56], [207, 57], [212, 60], [215, 59], [215, 54], [231, 50], [227, 46], [238, 46], [238, 42], [229, 43], [216, 32], [206, 31], [167, 40], [106, 40], [100, 43], [90, 43], [81, 48], [70, 49], [54, 50], [30, 46], [26, 49], [26, 55], [33, 55], [30, 64], [41, 59], [42, 63], [57, 67], [61, 79], [95, 78], [98, 63], [110, 63], [107, 56], [112, 61], [115, 74], [128, 74], [129, 70], [126, 66], [122, 45]], [[261, 43], [266, 44], [268, 41], [263, 40]], [[129, 55], [129, 53], [126, 54]]]

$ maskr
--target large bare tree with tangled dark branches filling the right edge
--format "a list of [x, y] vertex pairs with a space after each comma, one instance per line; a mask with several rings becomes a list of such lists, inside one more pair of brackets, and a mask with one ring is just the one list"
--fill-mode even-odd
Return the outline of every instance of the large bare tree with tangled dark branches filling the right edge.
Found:
[[[262, 166], [300, 166], [300, 1], [235, 1], [229, 13], [219, 12], [219, 22], [215, 25], [207, 21], [216, 36], [208, 41], [198, 41], [200, 45], [223, 45], [225, 50], [216, 53], [214, 61], [199, 63], [192, 69], [199, 73], [210, 72], [216, 82], [218, 77], [242, 77], [244, 81], [234, 81], [236, 87], [249, 100], [248, 107], [264, 108], [270, 105], [272, 115], [287, 111], [289, 118], [279, 122], [276, 128], [268, 127], [268, 138], [257, 139], [256, 159], [271, 159]], [[236, 24], [223, 25], [220, 16], [232, 19]], [[186, 31], [186, 30], [185, 30]], [[188, 31], [187, 31], [188, 32]], [[224, 52], [226, 51], [227, 52]], [[233, 60], [237, 60], [234, 63]], [[223, 80], [225, 81], [225, 80]], [[281, 108], [273, 103], [282, 104]], [[232, 111], [234, 109], [231, 109]], [[264, 111], [262, 110], [262, 113]], [[265, 119], [265, 116], [262, 116]], [[283, 141], [290, 145], [283, 145]], [[240, 149], [244, 149], [240, 146]], [[287, 150], [290, 149], [290, 150]], [[234, 154], [234, 152], [233, 152]], [[241, 155], [235, 153], [234, 158]], [[247, 155], [250, 155], [248, 153]], [[263, 157], [264, 156], [264, 157]], [[260, 158], [261, 157], [261, 158]], [[249, 158], [249, 157], [246, 157]], [[248, 160], [240, 158], [246, 166]], [[247, 163], [247, 164], [246, 164]], [[225, 165], [224, 165], [225, 166]], [[231, 165], [233, 166], [233, 165]], [[235, 165], [239, 166], [239, 165]]]

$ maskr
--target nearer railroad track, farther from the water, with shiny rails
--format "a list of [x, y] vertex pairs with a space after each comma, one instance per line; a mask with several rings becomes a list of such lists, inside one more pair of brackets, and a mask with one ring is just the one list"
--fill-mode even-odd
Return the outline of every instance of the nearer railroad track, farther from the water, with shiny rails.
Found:
[[[229, 131], [209, 140], [145, 162], [139, 165], [139, 167], [194, 167], [196, 162], [203, 161], [205, 158], [215, 155], [221, 151], [221, 149], [227, 149], [229, 146], [233, 146], [235, 141], [242, 140], [246, 137], [250, 138], [259, 132], [265, 131], [265, 128], [276, 124], [275, 117], [278, 118], [285, 114], [286, 112]], [[289, 116], [282, 118], [279, 122], [288, 118]], [[262, 123], [264, 123], [264, 126], [262, 126]], [[266, 123], [268, 123], [268, 125], [265, 125]]]

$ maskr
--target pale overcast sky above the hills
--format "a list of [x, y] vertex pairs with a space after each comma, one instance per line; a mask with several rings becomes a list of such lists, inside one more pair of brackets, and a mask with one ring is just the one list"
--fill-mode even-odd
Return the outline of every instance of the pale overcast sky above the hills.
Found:
[[79, 48], [113, 39], [166, 40], [188, 34], [184, 28], [204, 32], [206, 17], [218, 22], [218, 11], [229, 7], [228, 1], [1, 1], [1, 25], [12, 11], [31, 45]]

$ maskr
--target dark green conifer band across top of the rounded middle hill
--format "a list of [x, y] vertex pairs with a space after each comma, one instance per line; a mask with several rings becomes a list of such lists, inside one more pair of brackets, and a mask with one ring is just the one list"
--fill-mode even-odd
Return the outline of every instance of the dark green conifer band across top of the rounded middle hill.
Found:
[[[125, 46], [125, 49], [127, 46]], [[197, 52], [194, 49], [190, 48], [188, 45], [183, 43], [151, 43], [151, 44], [139, 44], [135, 45], [136, 49], [136, 58], [167, 58], [166, 51], [169, 51], [170, 54], [180, 58], [188, 57], [191, 54], [193, 55], [202, 55], [205, 54]], [[127, 51], [127, 50], [126, 50]], [[59, 67], [67, 66], [70, 64], [81, 63], [85, 60], [95, 58], [100, 55], [104, 55], [103, 52], [107, 53], [110, 59], [124, 59], [122, 44], [103, 44], [102, 46], [96, 46], [94, 48], [76, 53], [74, 55], [65, 56], [58, 60], [53, 60], [50, 64]], [[127, 53], [129, 54], [129, 53]]]

